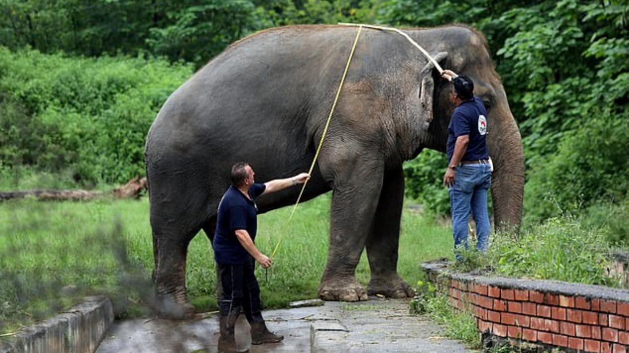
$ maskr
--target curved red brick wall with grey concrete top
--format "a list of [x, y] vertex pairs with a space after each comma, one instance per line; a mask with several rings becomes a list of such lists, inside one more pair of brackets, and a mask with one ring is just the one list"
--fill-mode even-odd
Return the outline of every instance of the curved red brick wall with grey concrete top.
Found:
[[450, 305], [469, 310], [485, 337], [534, 350], [629, 353], [629, 290], [450, 273], [422, 265]]

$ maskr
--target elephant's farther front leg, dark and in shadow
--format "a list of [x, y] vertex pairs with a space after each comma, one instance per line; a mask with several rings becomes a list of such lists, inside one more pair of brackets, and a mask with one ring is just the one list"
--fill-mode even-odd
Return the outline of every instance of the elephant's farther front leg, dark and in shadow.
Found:
[[402, 168], [388, 171], [384, 176], [376, 217], [367, 238], [367, 258], [371, 268], [371, 280], [367, 286], [369, 295], [406, 298], [415, 294], [413, 288], [398, 275], [399, 224], [403, 198]]

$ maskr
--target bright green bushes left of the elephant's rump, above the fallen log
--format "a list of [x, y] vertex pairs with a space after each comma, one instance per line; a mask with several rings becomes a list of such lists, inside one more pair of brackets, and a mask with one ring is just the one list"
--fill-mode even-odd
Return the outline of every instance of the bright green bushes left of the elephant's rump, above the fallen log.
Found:
[[0, 166], [65, 172], [81, 184], [142, 174], [148, 128], [190, 65], [69, 58], [0, 47]]

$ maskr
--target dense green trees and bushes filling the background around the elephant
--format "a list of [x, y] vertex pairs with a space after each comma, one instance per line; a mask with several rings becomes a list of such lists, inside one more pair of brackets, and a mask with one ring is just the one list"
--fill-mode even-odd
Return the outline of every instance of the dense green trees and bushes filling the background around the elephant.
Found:
[[[486, 35], [520, 124], [525, 217], [569, 205], [626, 212], [628, 14], [629, 0], [1, 0], [0, 166], [125, 182], [142, 173], [143, 138], [165, 97], [257, 30], [460, 22]], [[440, 214], [443, 158], [404, 168], [409, 195]]]

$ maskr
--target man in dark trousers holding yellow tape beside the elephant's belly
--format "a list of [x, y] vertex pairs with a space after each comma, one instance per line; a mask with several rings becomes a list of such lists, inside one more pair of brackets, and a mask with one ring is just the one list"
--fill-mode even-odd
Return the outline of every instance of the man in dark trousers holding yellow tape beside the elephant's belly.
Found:
[[235, 341], [234, 329], [240, 310], [251, 326], [252, 344], [280, 342], [284, 336], [270, 332], [262, 318], [260, 286], [255, 278], [255, 261], [269, 268], [271, 260], [255, 246], [258, 208], [255, 198], [303, 184], [308, 173], [291, 178], [276, 179], [259, 184], [253, 180], [253, 170], [247, 163], [231, 167], [231, 187], [218, 205], [218, 219], [214, 233], [214, 259], [218, 263], [223, 294], [220, 298], [221, 337], [219, 352], [248, 352], [240, 350]]

